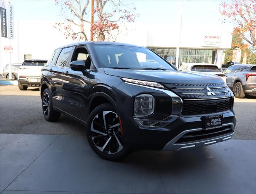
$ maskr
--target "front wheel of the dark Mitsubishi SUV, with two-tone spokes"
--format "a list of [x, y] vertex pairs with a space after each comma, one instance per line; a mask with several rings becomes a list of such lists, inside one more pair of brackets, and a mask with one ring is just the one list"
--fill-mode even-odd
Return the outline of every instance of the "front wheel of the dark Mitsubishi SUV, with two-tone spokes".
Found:
[[100, 157], [119, 160], [129, 154], [129, 148], [123, 144], [119, 117], [112, 105], [97, 106], [89, 115], [86, 128], [89, 145]]

